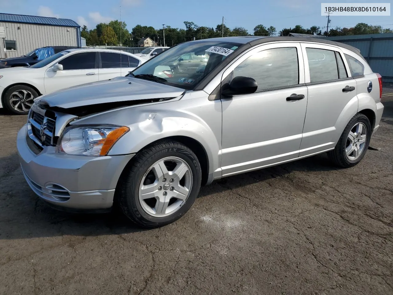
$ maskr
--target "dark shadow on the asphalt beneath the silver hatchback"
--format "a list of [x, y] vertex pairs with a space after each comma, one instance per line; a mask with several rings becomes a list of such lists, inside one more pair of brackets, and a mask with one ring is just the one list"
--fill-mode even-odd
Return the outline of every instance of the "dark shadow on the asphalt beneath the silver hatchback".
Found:
[[[16, 155], [0, 158], [0, 240], [48, 236], [100, 236], [146, 231], [114, 208], [105, 214], [68, 213], [55, 210], [29, 188]], [[263, 170], [226, 177], [202, 186], [198, 198], [284, 176], [292, 171], [331, 171], [326, 155], [298, 160]], [[15, 188], [17, 186], [17, 191]]]

